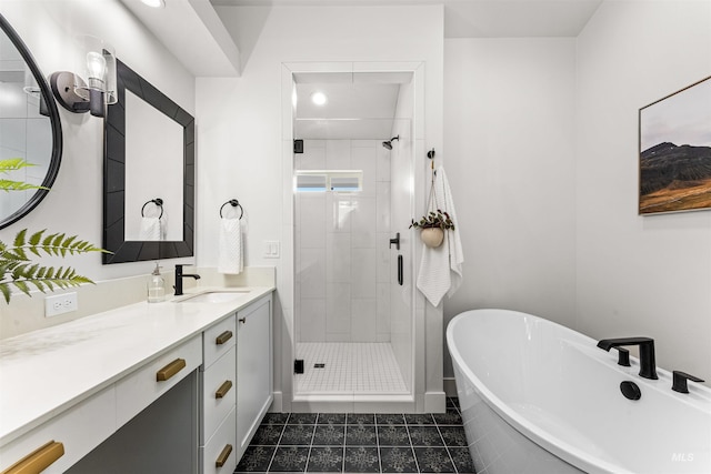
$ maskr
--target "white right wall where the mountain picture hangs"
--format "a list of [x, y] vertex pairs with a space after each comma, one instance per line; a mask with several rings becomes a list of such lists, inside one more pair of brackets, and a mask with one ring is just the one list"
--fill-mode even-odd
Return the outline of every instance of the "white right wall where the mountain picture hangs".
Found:
[[[711, 212], [638, 215], [638, 110], [711, 74], [711, 2], [604, 2], [578, 38], [577, 313], [711, 379]], [[700, 104], [701, 105], [701, 104]]]

